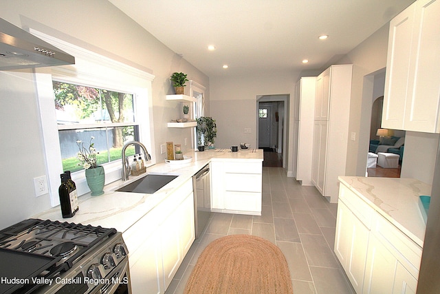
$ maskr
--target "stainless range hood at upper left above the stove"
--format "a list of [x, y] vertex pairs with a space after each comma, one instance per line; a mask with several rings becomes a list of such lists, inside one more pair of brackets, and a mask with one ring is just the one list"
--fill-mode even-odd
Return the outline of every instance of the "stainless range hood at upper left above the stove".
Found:
[[74, 64], [72, 55], [0, 19], [0, 70]]

